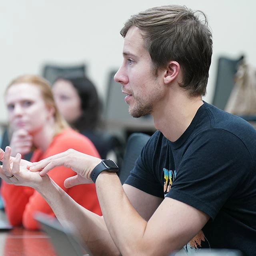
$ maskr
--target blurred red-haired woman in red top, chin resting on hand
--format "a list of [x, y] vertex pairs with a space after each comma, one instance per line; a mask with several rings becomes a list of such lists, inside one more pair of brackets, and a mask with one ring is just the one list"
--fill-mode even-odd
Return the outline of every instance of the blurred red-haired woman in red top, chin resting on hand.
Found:
[[[92, 142], [69, 127], [58, 111], [50, 85], [39, 76], [24, 75], [14, 79], [6, 89], [5, 102], [11, 129], [12, 156], [34, 152], [31, 162], [38, 162], [68, 148], [99, 157]], [[63, 166], [53, 168], [49, 176], [78, 204], [101, 214], [94, 184], [64, 187], [64, 180], [76, 173]], [[10, 177], [11, 178], [11, 177]], [[1, 194], [6, 216], [12, 225], [37, 229], [33, 216], [44, 212], [54, 216], [44, 198], [33, 188], [14, 186], [2, 181]]]

